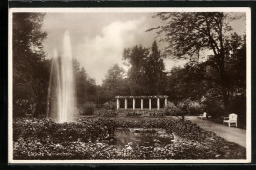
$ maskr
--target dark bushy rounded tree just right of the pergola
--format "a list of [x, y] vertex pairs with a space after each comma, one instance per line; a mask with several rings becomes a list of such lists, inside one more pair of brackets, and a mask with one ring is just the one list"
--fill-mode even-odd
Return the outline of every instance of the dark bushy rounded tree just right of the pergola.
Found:
[[166, 77], [166, 94], [175, 103], [191, 98], [199, 100], [209, 89], [220, 88], [218, 73], [212, 68], [211, 59], [198, 64], [189, 63], [173, 68]]

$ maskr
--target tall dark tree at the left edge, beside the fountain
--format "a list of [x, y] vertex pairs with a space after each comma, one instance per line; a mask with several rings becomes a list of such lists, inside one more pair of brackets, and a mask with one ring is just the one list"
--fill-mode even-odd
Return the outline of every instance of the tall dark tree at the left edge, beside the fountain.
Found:
[[13, 113], [46, 113], [49, 61], [45, 60], [44, 14], [13, 14]]

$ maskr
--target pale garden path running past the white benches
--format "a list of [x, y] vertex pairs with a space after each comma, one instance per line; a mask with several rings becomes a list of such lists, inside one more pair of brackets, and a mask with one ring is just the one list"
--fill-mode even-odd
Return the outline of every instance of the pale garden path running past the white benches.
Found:
[[216, 135], [224, 138], [227, 141], [246, 147], [246, 130], [224, 126], [212, 121], [201, 120], [196, 116], [186, 116], [186, 119], [192, 121], [207, 131], [215, 132]]

